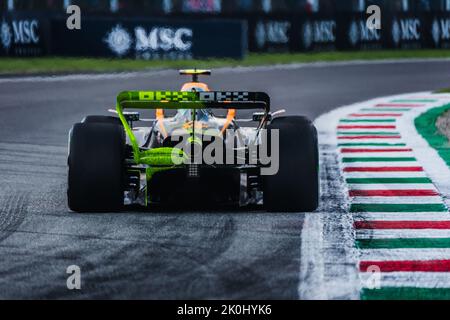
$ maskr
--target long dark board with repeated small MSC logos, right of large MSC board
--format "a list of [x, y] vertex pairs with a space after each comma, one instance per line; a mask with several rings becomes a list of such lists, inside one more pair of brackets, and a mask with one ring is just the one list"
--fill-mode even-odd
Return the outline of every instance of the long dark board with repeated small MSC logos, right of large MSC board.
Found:
[[381, 29], [369, 28], [364, 13], [336, 16], [248, 17], [254, 52], [420, 49], [450, 47], [450, 13], [383, 15]]

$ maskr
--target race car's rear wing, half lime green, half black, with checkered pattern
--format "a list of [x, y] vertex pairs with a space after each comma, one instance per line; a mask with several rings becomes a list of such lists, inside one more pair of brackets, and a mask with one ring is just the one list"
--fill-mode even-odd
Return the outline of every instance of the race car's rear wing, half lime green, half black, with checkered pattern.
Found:
[[246, 91], [125, 91], [117, 97], [117, 112], [123, 109], [263, 109], [270, 112], [270, 97]]

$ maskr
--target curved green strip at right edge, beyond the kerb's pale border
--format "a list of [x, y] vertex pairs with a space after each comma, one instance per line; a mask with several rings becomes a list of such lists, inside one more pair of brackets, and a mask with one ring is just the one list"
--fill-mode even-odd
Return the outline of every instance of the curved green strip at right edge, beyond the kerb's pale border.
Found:
[[450, 104], [428, 110], [416, 118], [415, 125], [417, 131], [450, 167], [450, 142], [436, 127], [437, 119], [448, 110]]

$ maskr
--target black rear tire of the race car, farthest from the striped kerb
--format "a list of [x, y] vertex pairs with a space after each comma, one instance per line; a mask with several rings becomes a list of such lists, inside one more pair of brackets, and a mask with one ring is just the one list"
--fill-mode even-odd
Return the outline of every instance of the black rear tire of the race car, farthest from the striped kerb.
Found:
[[77, 123], [69, 135], [68, 205], [75, 212], [119, 211], [124, 200], [125, 133], [111, 123]]

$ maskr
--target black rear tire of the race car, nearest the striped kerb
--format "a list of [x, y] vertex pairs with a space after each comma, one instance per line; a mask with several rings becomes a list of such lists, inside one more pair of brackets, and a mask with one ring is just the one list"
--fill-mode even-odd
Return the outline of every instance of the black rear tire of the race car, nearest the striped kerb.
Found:
[[[311, 212], [319, 206], [317, 130], [306, 117], [274, 119], [279, 130], [279, 171], [263, 176], [264, 207], [271, 212]], [[270, 143], [270, 139], [269, 139]], [[270, 144], [269, 144], [270, 145]]]

